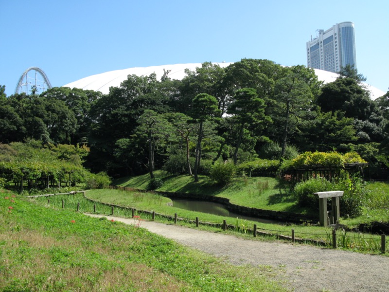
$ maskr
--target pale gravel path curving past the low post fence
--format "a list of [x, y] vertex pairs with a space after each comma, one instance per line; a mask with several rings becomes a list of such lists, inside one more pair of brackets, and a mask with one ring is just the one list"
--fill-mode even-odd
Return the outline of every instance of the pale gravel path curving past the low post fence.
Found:
[[[99, 215], [91, 215], [101, 217]], [[127, 224], [133, 219], [106, 216]], [[296, 292], [388, 292], [389, 257], [301, 244], [246, 240], [177, 225], [142, 221], [141, 227], [163, 237], [226, 258], [232, 264], [271, 265]]]

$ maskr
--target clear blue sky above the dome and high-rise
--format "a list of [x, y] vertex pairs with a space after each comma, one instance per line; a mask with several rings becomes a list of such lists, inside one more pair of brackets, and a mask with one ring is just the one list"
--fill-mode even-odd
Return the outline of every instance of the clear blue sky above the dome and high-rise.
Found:
[[306, 66], [317, 29], [352, 21], [367, 83], [389, 87], [387, 0], [0, 0], [0, 85], [39, 67], [52, 86], [131, 67], [269, 59]]

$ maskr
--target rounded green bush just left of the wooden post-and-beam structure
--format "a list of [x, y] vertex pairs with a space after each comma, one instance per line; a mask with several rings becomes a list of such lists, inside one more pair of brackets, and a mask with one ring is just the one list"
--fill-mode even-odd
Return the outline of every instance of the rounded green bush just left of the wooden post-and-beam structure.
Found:
[[293, 196], [298, 201], [299, 206], [317, 209], [318, 199], [314, 193], [332, 190], [334, 190], [334, 185], [326, 179], [309, 179], [305, 182], [296, 183]]

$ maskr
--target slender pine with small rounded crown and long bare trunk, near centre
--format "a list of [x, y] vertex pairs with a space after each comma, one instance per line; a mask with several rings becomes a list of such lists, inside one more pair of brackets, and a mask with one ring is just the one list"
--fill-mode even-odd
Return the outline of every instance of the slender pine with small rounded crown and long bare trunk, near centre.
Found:
[[220, 110], [217, 106], [217, 100], [214, 96], [207, 93], [200, 93], [192, 100], [191, 117], [198, 123], [197, 144], [194, 176], [195, 182], [198, 182], [198, 167], [200, 165], [201, 140], [203, 138], [203, 124], [206, 120], [220, 116]]

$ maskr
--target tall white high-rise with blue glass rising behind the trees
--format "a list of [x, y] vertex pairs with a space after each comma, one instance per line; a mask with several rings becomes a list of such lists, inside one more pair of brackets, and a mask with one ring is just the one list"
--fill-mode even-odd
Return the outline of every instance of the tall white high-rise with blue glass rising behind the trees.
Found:
[[336, 23], [307, 42], [308, 67], [330, 72], [339, 72], [346, 65], [356, 69], [354, 23]]

